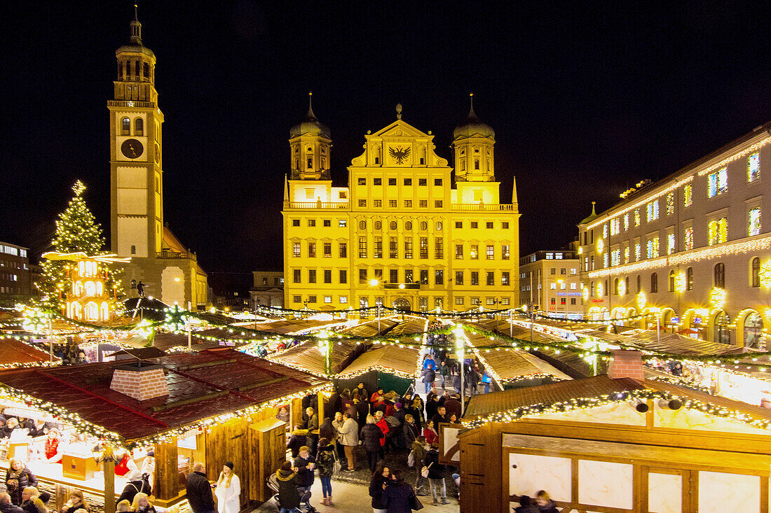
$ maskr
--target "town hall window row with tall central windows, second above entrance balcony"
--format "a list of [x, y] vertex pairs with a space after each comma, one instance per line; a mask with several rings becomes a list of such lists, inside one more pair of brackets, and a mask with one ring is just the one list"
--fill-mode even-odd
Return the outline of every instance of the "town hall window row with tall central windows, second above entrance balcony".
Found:
[[[383, 258], [383, 238], [382, 236], [374, 236], [372, 238], [372, 258]], [[403, 257], [404, 258], [412, 258], [413, 256], [413, 240], [412, 237], [407, 237], [404, 239], [404, 245], [403, 245]], [[429, 257], [429, 238], [428, 237], [419, 237], [419, 246], [418, 246], [418, 258], [419, 259], [427, 259]], [[315, 258], [317, 256], [317, 249], [318, 249], [318, 243], [315, 242], [309, 242], [308, 244], [308, 251], [307, 251], [307, 257], [308, 258]], [[325, 242], [321, 243], [321, 249], [322, 249], [322, 257], [324, 258], [331, 258], [332, 257], [332, 243], [331, 242]], [[495, 246], [493, 244], [487, 244], [486, 246], [483, 246], [485, 260], [495, 260]], [[338, 258], [348, 258], [348, 243], [342, 242], [338, 243]], [[301, 243], [295, 242], [292, 243], [292, 257], [302, 257], [302, 246]], [[389, 236], [388, 240], [388, 258], [399, 258], [399, 237], [396, 236]], [[455, 260], [463, 260], [464, 259], [463, 253], [463, 244], [456, 244], [455, 246]], [[369, 255], [368, 250], [368, 240], [366, 236], [360, 236], [359, 237], [359, 258], [367, 258]], [[469, 244], [469, 259], [470, 260], [479, 260], [480, 258], [480, 245], [479, 244]], [[500, 260], [509, 260], [510, 259], [510, 251], [509, 251], [509, 245], [508, 244], [501, 244], [500, 246]], [[443, 259], [444, 258], [444, 240], [442, 237], [434, 237], [434, 247], [433, 247], [433, 257], [435, 259]]]

